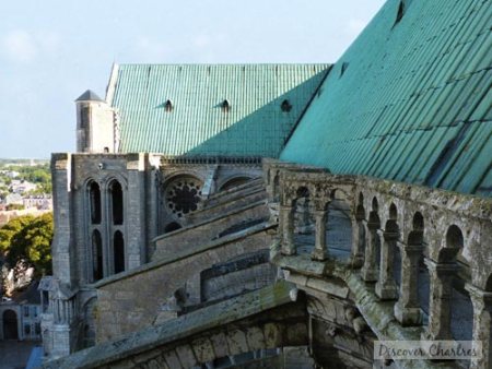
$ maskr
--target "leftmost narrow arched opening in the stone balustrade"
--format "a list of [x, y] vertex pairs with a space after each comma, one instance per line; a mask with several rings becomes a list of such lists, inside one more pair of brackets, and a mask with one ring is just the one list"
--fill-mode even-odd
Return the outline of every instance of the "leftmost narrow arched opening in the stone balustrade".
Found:
[[309, 189], [300, 187], [294, 201], [294, 242], [297, 252], [311, 252], [315, 245], [315, 219]]

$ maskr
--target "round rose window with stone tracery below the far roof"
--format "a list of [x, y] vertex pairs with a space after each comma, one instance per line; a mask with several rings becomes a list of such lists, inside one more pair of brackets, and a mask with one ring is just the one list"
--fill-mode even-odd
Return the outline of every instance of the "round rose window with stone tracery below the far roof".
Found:
[[201, 200], [202, 183], [194, 177], [180, 177], [166, 187], [167, 207], [177, 217], [195, 212]]

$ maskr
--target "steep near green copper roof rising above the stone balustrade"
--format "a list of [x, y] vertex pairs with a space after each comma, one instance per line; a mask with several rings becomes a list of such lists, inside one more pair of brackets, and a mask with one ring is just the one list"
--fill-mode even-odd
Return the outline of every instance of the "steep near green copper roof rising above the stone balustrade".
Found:
[[491, 20], [490, 0], [387, 1], [281, 158], [492, 197]]

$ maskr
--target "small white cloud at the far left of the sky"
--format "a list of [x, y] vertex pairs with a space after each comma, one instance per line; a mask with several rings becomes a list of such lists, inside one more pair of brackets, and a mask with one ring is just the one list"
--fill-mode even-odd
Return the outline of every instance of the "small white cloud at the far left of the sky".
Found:
[[60, 46], [60, 37], [52, 32], [28, 33], [14, 29], [1, 38], [2, 53], [15, 62], [30, 63], [37, 56], [52, 53]]

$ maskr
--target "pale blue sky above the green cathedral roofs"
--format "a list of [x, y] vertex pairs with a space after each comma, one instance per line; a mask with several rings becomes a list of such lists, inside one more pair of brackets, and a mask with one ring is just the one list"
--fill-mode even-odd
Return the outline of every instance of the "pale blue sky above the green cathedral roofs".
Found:
[[0, 3], [0, 157], [73, 152], [73, 100], [113, 62], [335, 62], [385, 0]]

